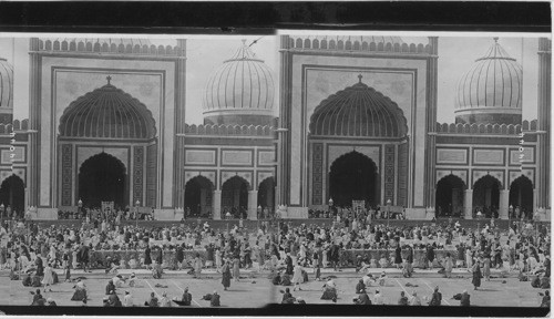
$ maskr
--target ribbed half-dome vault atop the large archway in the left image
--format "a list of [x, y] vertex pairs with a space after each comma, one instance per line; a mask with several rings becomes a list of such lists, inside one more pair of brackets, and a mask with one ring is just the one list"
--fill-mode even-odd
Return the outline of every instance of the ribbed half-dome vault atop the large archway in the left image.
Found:
[[73, 101], [60, 119], [60, 135], [93, 138], [153, 138], [152, 113], [110, 83]]

